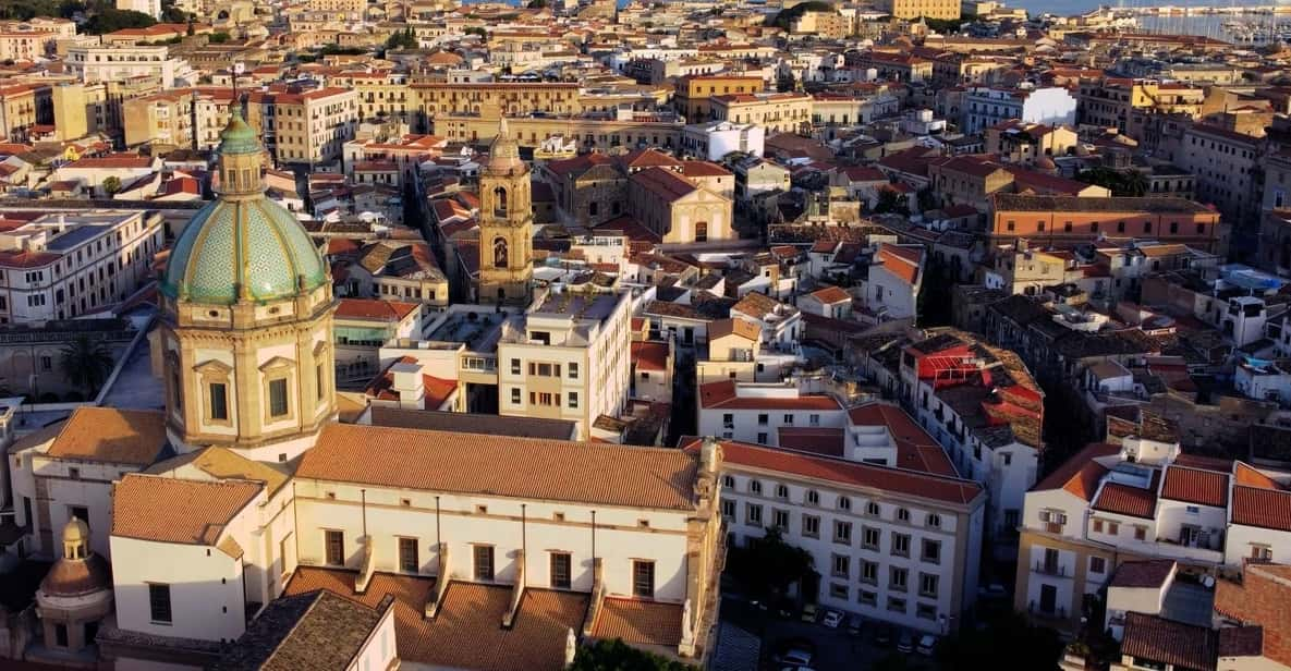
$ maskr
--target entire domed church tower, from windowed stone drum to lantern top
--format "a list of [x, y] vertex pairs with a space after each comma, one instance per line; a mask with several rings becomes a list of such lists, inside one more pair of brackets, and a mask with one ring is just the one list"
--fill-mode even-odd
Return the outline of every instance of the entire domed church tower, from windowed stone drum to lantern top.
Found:
[[336, 416], [336, 299], [318, 246], [265, 196], [263, 148], [235, 110], [221, 133], [219, 197], [176, 240], [156, 352], [181, 452], [294, 458]]

